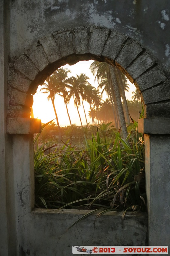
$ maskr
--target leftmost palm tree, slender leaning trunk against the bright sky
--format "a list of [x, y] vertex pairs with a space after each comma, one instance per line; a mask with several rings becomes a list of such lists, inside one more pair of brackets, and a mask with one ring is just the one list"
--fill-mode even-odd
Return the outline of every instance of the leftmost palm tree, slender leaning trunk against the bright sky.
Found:
[[57, 112], [56, 112], [56, 108], [55, 108], [55, 104], [54, 104], [54, 100], [55, 100], [55, 83], [54, 83], [55, 79], [53, 79], [53, 74], [51, 76], [48, 76], [46, 79], [46, 83], [44, 82], [44, 86], [43, 88], [41, 88], [40, 91], [43, 91], [43, 93], [49, 93], [49, 95], [47, 96], [47, 99], [51, 99], [53, 108], [54, 108], [54, 112], [55, 112], [55, 117], [56, 117], [56, 122], [57, 122], [57, 126], [58, 126], [58, 132], [59, 132], [59, 138], [62, 138], [62, 134], [61, 134], [61, 128], [59, 125], [59, 121], [58, 121], [58, 116], [57, 116]]

